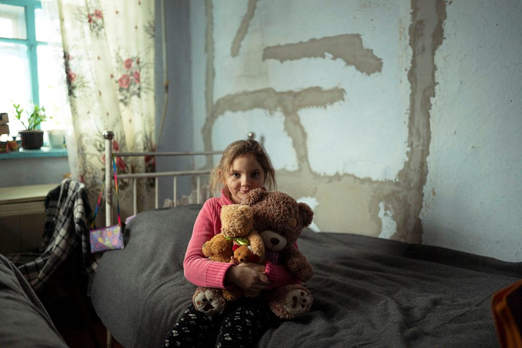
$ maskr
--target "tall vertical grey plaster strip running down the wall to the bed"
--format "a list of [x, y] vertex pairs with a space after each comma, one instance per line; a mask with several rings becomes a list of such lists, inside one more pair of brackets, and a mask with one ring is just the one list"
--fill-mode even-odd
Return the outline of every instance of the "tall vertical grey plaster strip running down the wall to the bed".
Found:
[[431, 98], [435, 96], [435, 52], [444, 37], [446, 4], [441, 0], [412, 0], [411, 8], [409, 34], [413, 54], [408, 72], [411, 90], [408, 120], [410, 151], [405, 167], [398, 175], [401, 190], [396, 195], [400, 197], [390, 201], [390, 205], [395, 212], [399, 208], [403, 211], [403, 216], [396, 220], [394, 239], [421, 243], [422, 222], [419, 216], [428, 177], [426, 158], [430, 154]]

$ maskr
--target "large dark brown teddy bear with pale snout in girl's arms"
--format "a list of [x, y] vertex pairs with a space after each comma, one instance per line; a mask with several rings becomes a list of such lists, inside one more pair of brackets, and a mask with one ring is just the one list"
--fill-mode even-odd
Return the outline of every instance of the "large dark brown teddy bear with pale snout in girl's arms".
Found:
[[[286, 193], [254, 189], [241, 201], [254, 210], [254, 230], [264, 240], [266, 260], [284, 264], [302, 282], [312, 278], [314, 271], [295, 242], [303, 228], [310, 226], [314, 213], [309, 205], [298, 203]], [[287, 285], [263, 292], [270, 309], [280, 318], [292, 319], [306, 313], [312, 306], [312, 294], [301, 284]]]

